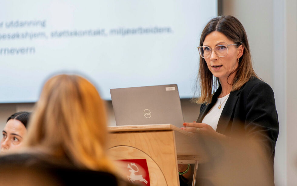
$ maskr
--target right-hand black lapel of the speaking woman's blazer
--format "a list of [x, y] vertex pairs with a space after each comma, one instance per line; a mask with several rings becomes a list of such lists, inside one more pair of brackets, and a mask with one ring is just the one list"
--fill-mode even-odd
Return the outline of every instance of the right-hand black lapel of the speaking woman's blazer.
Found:
[[235, 105], [238, 100], [238, 94], [241, 92], [241, 90], [242, 88], [240, 88], [239, 90], [230, 92], [229, 98], [222, 110], [222, 114], [218, 122], [217, 130], [216, 130], [218, 133], [225, 134], [225, 131], [234, 113]]

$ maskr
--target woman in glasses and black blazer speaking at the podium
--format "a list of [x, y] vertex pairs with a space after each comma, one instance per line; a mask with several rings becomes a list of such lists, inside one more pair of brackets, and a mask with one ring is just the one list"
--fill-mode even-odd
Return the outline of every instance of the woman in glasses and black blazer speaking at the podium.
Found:
[[[233, 16], [216, 17], [203, 29], [198, 50], [196, 102], [202, 105], [197, 122], [183, 123], [182, 129], [217, 140], [252, 137], [273, 167], [279, 133], [274, 93], [255, 74], [244, 27]], [[189, 167], [179, 165], [181, 183], [191, 177]]]

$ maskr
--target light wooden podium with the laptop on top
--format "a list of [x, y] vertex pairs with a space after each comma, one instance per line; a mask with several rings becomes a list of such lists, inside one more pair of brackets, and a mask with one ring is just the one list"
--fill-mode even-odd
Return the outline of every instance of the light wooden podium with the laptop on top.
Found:
[[179, 186], [177, 164], [202, 162], [197, 135], [171, 124], [108, 127], [113, 160], [146, 159], [152, 186]]

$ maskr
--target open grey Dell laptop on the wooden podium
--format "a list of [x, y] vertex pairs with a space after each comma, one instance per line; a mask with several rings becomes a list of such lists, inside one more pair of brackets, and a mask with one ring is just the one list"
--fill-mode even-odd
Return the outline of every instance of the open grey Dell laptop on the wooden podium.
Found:
[[170, 123], [182, 127], [176, 84], [110, 89], [110, 95], [117, 126]]

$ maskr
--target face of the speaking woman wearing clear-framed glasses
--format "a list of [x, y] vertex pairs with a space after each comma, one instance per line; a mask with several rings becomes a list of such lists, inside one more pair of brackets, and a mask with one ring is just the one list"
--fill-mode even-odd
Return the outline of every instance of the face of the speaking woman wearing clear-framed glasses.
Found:
[[[235, 44], [228, 39], [224, 34], [218, 31], [208, 34], [203, 42], [203, 46], [209, 46], [214, 49], [218, 45], [230, 45]], [[227, 80], [229, 74], [231, 74], [239, 65], [237, 59], [243, 54], [243, 46], [236, 47], [236, 45], [228, 46], [228, 54], [225, 57], [219, 57], [215, 52], [212, 52], [210, 57], [205, 58], [208, 69], [210, 72], [220, 79], [220, 81]], [[234, 74], [235, 75], [235, 74]], [[229, 83], [230, 83], [230, 79]]]

